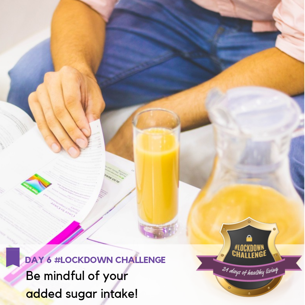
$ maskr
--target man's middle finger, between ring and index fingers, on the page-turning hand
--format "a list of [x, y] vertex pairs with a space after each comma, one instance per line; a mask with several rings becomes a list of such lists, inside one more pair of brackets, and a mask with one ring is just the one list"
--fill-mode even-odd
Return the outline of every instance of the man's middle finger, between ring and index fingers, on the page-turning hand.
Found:
[[66, 109], [60, 78], [51, 76], [49, 80], [45, 79], [45, 84], [57, 120], [59, 120], [67, 134], [79, 147], [87, 147], [88, 139], [86, 135], [84, 135], [84, 133], [78, 128], [77, 124], [71, 117], [70, 112]]

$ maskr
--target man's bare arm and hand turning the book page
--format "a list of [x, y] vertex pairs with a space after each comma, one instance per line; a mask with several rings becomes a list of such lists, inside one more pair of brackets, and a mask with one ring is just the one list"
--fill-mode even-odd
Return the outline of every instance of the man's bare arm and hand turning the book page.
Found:
[[88, 5], [61, 0], [51, 27], [51, 53], [55, 72], [30, 94], [29, 105], [49, 147], [61, 146], [72, 157], [88, 145], [89, 122], [105, 108], [95, 73], [102, 59], [105, 21]]

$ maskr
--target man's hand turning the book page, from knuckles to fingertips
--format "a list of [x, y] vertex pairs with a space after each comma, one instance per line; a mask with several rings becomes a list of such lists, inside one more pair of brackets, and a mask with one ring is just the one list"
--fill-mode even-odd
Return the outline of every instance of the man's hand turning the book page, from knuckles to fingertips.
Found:
[[63, 66], [45, 74], [44, 82], [29, 95], [30, 109], [48, 146], [61, 146], [72, 157], [88, 145], [89, 123], [99, 119], [105, 102], [95, 77]]

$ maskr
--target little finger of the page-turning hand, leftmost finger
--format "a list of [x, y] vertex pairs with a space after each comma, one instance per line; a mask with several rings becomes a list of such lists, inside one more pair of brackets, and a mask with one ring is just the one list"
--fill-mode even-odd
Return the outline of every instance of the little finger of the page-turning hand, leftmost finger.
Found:
[[61, 146], [48, 127], [41, 105], [38, 102], [36, 92], [32, 92], [29, 95], [29, 106], [37, 122], [37, 126], [45, 139], [45, 142], [53, 150], [53, 152], [60, 152]]

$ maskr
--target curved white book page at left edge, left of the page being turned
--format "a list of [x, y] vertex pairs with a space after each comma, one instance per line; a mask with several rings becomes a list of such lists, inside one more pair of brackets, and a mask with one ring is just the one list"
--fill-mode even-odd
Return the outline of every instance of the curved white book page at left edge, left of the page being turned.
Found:
[[35, 125], [22, 109], [0, 101], [0, 152]]

